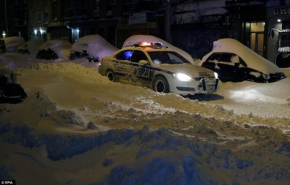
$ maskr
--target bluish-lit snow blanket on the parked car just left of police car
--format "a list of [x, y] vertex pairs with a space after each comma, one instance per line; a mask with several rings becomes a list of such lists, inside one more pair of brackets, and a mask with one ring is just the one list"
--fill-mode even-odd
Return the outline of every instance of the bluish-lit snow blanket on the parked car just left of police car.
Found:
[[88, 55], [91, 55], [95, 58], [103, 58], [106, 55], [111, 55], [119, 49], [116, 46], [110, 44], [105, 38], [101, 35], [86, 35], [82, 38], [79, 38], [75, 43], [72, 44], [72, 51], [82, 51], [83, 44], [88, 46], [85, 48], [88, 50]]

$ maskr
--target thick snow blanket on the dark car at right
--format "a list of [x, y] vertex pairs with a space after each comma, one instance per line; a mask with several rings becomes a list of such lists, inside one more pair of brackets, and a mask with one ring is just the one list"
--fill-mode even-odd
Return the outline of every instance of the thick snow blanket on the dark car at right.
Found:
[[[211, 55], [211, 53], [234, 53], [239, 55], [245, 61], [249, 68], [259, 70], [264, 73], [282, 72], [274, 63], [258, 55], [241, 42], [232, 38], [223, 38], [213, 42], [213, 50], [205, 55], [204, 58]], [[204, 61], [204, 59], [202, 59]]]

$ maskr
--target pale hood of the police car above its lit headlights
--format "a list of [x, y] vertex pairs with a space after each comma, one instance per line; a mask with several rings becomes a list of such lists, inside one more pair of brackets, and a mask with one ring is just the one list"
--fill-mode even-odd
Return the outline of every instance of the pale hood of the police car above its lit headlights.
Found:
[[188, 74], [192, 76], [193, 78], [195, 77], [206, 77], [206, 76], [211, 76], [214, 77], [213, 71], [203, 68], [201, 66], [196, 66], [194, 64], [161, 64], [160, 66], [157, 66], [157, 68], [160, 68], [161, 70], [167, 70], [172, 73], [174, 72], [182, 72], [184, 74]]

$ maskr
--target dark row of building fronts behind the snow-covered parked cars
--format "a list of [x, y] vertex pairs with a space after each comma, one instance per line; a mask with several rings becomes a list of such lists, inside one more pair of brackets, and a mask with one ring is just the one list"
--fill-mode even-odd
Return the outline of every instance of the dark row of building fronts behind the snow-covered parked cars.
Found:
[[169, 2], [168, 17], [163, 0], [1, 0], [0, 37], [73, 43], [99, 34], [120, 48], [136, 34], [165, 40], [169, 18], [172, 44], [194, 58], [211, 51], [214, 40], [235, 38], [273, 63], [289, 60], [290, 0]]

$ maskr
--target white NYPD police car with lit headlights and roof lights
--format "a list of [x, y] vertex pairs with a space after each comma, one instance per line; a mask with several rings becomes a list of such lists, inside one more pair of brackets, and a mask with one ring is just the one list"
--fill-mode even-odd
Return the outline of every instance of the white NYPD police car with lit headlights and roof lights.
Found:
[[103, 57], [98, 72], [111, 81], [183, 96], [218, 91], [213, 71], [195, 66], [161, 43], [138, 42]]

